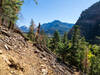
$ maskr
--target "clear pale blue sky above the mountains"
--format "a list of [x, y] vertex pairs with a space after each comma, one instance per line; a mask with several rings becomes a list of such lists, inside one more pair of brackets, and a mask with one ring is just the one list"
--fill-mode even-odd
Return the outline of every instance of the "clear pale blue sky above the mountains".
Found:
[[53, 20], [75, 23], [81, 12], [99, 0], [25, 0], [19, 14], [18, 25], [29, 26], [31, 19], [37, 25]]

